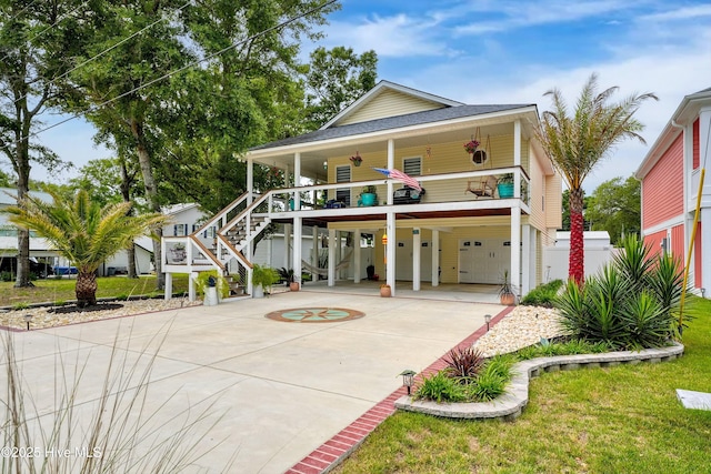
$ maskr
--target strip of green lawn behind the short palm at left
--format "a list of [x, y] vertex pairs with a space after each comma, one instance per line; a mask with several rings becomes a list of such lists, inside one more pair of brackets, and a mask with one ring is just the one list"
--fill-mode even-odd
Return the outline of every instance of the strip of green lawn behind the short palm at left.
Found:
[[[129, 295], [156, 295], [156, 276], [128, 279], [126, 276], [106, 276], [97, 279], [99, 290], [97, 297], [114, 297]], [[61, 280], [47, 279], [32, 282], [33, 288], [13, 288], [14, 282], [0, 282], [0, 306], [13, 306], [23, 303], [44, 303], [76, 300], [76, 278]], [[173, 278], [173, 293], [188, 291], [188, 275]]]

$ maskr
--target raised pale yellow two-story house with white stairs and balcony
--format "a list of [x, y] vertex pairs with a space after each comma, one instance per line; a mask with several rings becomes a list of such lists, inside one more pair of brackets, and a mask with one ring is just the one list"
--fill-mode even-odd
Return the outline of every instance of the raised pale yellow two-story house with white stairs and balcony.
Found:
[[[562, 213], [561, 179], [537, 123], [535, 104], [469, 105], [382, 81], [320, 130], [251, 149], [249, 192], [188, 238], [163, 239], [167, 294], [171, 273], [211, 268], [241, 273], [251, 291], [253, 243], [270, 223], [290, 236], [294, 273], [323, 272], [329, 285], [359, 283], [370, 263], [393, 294], [495, 284], [504, 272], [525, 294], [542, 281], [542, 248]], [[258, 192], [256, 164], [296, 184]]]

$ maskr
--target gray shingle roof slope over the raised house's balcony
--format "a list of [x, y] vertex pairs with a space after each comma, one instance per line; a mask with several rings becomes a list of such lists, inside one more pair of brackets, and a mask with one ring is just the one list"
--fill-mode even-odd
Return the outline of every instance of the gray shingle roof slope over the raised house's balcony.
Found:
[[428, 110], [424, 112], [408, 113], [405, 115], [388, 117], [384, 119], [370, 120], [368, 122], [351, 123], [348, 125], [332, 127], [326, 130], [306, 133], [303, 135], [290, 137], [266, 143], [250, 150], [266, 150], [270, 148], [288, 147], [301, 143], [311, 143], [322, 140], [331, 140], [343, 137], [360, 135], [364, 133], [379, 132], [383, 130], [394, 130], [404, 127], [420, 125], [423, 123], [442, 122], [445, 120], [461, 119], [463, 117], [482, 115], [484, 113], [501, 112], [505, 110], [523, 109], [535, 104], [509, 104], [509, 105], [459, 105], [443, 109]]

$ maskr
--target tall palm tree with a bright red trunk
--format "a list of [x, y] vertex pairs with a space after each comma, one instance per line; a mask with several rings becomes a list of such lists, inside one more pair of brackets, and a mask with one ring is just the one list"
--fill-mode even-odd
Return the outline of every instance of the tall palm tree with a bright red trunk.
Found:
[[657, 100], [653, 93], [632, 94], [609, 103], [618, 87], [598, 93], [598, 75], [591, 74], [582, 89], [572, 115], [560, 90], [545, 92], [553, 110], [543, 112], [535, 135], [570, 189], [570, 259], [568, 274], [581, 284], [584, 279], [583, 190], [582, 183], [614, 145], [625, 139], [644, 139], [644, 125], [634, 119], [641, 103]]

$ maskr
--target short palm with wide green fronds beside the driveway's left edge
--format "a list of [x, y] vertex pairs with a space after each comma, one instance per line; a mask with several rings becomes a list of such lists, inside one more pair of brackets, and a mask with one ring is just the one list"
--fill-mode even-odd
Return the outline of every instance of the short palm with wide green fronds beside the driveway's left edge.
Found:
[[7, 208], [10, 222], [36, 231], [47, 239], [72, 265], [77, 266], [77, 305], [97, 304], [97, 270], [102, 262], [133, 244], [133, 239], [166, 223], [162, 214], [127, 215], [130, 202], [101, 208], [87, 191], [63, 198], [48, 191], [49, 204], [26, 196]]

